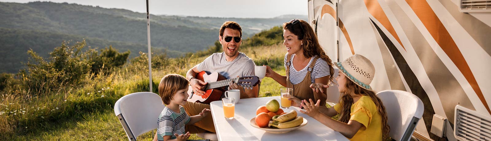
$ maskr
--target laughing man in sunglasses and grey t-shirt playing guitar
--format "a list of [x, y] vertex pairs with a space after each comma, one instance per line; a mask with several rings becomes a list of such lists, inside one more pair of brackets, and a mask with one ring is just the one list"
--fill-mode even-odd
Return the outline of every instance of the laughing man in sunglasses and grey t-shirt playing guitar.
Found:
[[[254, 75], [254, 61], [247, 57], [246, 54], [239, 52], [239, 47], [242, 44], [242, 28], [239, 24], [232, 21], [223, 23], [219, 30], [218, 40], [222, 45], [223, 52], [212, 54], [186, 74], [186, 78], [190, 80], [193, 91], [192, 96], [202, 96], [206, 93], [202, 90], [207, 82], [196, 79], [197, 74], [201, 71], [206, 71], [208, 74], [216, 71], [225, 79]], [[257, 85], [252, 87], [252, 89], [245, 89], [233, 81], [230, 81], [228, 85], [228, 90], [240, 90], [241, 99], [258, 97]], [[223, 94], [221, 97], [223, 97]], [[188, 100], [184, 108], [189, 116], [194, 116], [198, 115], [204, 108], [210, 109], [210, 105]], [[186, 126], [186, 131], [191, 134], [206, 131], [216, 132], [212, 116], [208, 116], [193, 125]]]

